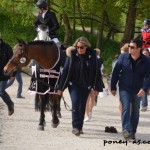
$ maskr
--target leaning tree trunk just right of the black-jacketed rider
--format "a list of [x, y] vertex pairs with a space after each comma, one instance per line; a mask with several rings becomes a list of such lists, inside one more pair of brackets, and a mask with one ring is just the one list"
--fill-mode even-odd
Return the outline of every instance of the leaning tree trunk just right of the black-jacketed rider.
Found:
[[65, 27], [64, 44], [69, 44], [69, 42], [72, 40], [72, 30], [67, 14], [64, 13], [62, 16]]

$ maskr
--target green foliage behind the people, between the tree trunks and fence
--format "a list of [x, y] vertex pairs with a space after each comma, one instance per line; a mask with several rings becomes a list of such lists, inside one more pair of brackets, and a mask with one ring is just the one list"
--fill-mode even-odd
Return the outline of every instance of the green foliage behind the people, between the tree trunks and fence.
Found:
[[[24, 41], [31, 41], [36, 37], [36, 33], [33, 28], [33, 22], [35, 19], [35, 14], [38, 10], [35, 8], [35, 3], [37, 0], [0, 0], [0, 33], [1, 37], [9, 43], [12, 47], [16, 44], [16, 38], [23, 39]], [[51, 7], [55, 9], [56, 15], [60, 22], [61, 14], [67, 13], [68, 17], [73, 16], [73, 3], [75, 3], [76, 13], [86, 12], [95, 15], [97, 20], [100, 20], [101, 14], [105, 9], [109, 16], [109, 21], [113, 23], [114, 26], [125, 26], [126, 14], [128, 12], [129, 2], [131, 0], [107, 0], [107, 4], [103, 5], [103, 0], [78, 0], [80, 2], [80, 10], [77, 5], [77, 0], [51, 0]], [[105, 0], [106, 1], [106, 0]], [[137, 15], [136, 15], [136, 26], [142, 27], [143, 20], [145, 18], [150, 18], [150, 1], [138, 0], [137, 5]], [[86, 14], [86, 16], [87, 16]], [[76, 14], [76, 17], [78, 16]], [[69, 20], [71, 27], [73, 28], [73, 20]], [[90, 27], [90, 21], [83, 19], [85, 27]], [[99, 29], [99, 23], [94, 22], [94, 29]], [[81, 27], [81, 21], [76, 20], [76, 27]], [[115, 34], [114, 40], [106, 39], [106, 34], [108, 32], [108, 27], [105, 26], [104, 34], [102, 39], [102, 49], [101, 57], [104, 60], [105, 73], [108, 74], [111, 71], [111, 62], [116, 53], [120, 53], [120, 41], [123, 34]], [[81, 30], [75, 31], [74, 39], [70, 40], [70, 45], [79, 36], [86, 36], [92, 44], [92, 47], [96, 47], [97, 34], [90, 34], [88, 32], [83, 32]], [[64, 26], [61, 24], [61, 28], [57, 32], [59, 40], [64, 39]]]

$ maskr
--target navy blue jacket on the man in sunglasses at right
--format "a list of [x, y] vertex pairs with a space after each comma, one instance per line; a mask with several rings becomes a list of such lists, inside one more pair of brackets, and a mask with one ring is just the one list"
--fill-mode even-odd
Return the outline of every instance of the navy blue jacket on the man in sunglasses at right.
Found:
[[135, 69], [132, 68], [130, 54], [121, 54], [112, 72], [111, 90], [116, 90], [119, 80], [119, 89], [137, 94], [142, 88], [145, 92], [149, 88], [150, 59], [141, 54]]

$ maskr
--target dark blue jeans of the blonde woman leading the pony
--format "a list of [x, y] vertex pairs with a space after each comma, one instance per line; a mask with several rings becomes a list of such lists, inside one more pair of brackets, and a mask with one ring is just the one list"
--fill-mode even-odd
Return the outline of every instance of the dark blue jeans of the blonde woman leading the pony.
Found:
[[72, 101], [72, 127], [82, 129], [86, 102], [90, 90], [78, 86], [75, 83], [68, 86], [71, 101]]

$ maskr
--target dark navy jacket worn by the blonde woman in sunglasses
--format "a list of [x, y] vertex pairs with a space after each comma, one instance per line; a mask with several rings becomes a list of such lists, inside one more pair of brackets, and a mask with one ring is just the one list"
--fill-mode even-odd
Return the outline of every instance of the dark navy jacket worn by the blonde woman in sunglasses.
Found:
[[64, 91], [68, 84], [73, 83], [99, 92], [103, 91], [100, 64], [95, 50], [88, 48], [84, 57], [79, 55], [76, 49], [70, 51], [58, 89]]

